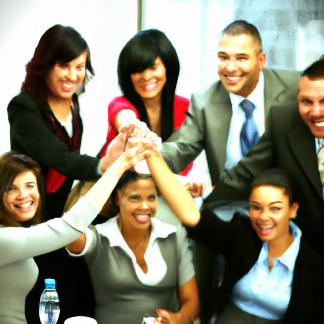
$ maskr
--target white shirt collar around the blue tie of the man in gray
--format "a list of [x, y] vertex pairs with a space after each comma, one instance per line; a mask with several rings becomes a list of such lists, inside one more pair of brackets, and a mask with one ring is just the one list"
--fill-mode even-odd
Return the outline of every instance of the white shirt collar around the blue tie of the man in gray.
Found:
[[236, 95], [232, 92], [229, 92], [229, 98], [231, 99], [231, 103], [232, 103], [232, 110], [233, 110], [233, 115], [237, 113], [237, 109], [238, 107], [240, 107], [240, 103], [244, 100], [244, 99], [248, 99], [249, 101], [251, 101], [254, 106], [255, 109], [264, 109], [264, 75], [263, 72], [260, 71], [260, 77], [259, 77], [259, 81], [256, 85], [256, 87], [254, 88], [254, 90], [249, 94], [248, 97], [244, 98], [242, 96]]

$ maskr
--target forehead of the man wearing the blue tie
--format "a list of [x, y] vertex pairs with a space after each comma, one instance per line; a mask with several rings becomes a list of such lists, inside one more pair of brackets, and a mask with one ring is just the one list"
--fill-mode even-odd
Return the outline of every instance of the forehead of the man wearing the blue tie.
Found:
[[255, 52], [256, 42], [249, 35], [229, 36], [223, 35], [218, 44], [218, 52], [225, 52], [229, 55], [239, 53], [253, 54]]

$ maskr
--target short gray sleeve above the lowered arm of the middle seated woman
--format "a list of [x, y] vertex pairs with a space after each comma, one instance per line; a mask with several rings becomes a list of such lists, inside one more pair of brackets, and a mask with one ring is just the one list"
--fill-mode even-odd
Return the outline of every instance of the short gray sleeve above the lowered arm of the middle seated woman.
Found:
[[189, 248], [189, 240], [183, 226], [178, 227], [176, 232], [179, 256], [179, 286], [186, 284], [195, 275], [192, 251]]

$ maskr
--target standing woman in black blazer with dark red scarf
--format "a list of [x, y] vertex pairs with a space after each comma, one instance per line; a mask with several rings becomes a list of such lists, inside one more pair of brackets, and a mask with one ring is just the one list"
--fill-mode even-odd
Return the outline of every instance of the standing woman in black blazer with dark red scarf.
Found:
[[[124, 149], [124, 134], [99, 160], [80, 154], [82, 120], [78, 87], [85, 89], [86, 72], [94, 75], [86, 41], [71, 27], [48, 29], [26, 66], [21, 93], [8, 105], [11, 149], [36, 160], [46, 178], [43, 220], [62, 215], [73, 181], [95, 180]], [[111, 154], [111, 151], [114, 151]], [[44, 279], [56, 279], [61, 302], [59, 324], [77, 315], [94, 315], [94, 296], [86, 264], [69, 258], [65, 249], [35, 258], [38, 282], [26, 299], [28, 323], [39, 323], [39, 298]]]

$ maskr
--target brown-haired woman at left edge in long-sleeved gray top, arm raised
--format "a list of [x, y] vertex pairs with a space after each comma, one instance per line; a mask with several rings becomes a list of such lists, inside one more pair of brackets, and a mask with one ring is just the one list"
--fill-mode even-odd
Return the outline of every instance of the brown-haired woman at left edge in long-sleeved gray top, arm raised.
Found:
[[60, 249], [79, 237], [102, 209], [121, 175], [143, 159], [145, 152], [144, 147], [127, 150], [69, 212], [28, 228], [21, 223], [37, 223], [41, 211], [40, 167], [31, 158], [13, 152], [0, 157], [1, 324], [26, 323], [25, 298], [38, 277], [33, 257]]

